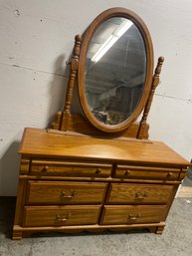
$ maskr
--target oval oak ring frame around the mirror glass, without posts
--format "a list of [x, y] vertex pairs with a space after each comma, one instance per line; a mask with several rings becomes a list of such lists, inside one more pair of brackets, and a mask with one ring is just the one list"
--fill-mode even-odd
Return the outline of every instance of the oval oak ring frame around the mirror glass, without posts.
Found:
[[[140, 101], [137, 107], [134, 109], [134, 112], [130, 115], [130, 117], [127, 120], [117, 125], [109, 126], [109, 125], [104, 125], [103, 123], [100, 123], [90, 110], [90, 106], [88, 104], [88, 100], [86, 97], [85, 67], [86, 67], [88, 49], [89, 49], [91, 40], [96, 32], [96, 29], [104, 21], [112, 17], [127, 18], [131, 20], [134, 23], [134, 25], [138, 28], [143, 38], [143, 42], [145, 44], [147, 61], [146, 61], [146, 79], [143, 87], [143, 94], [140, 98]], [[153, 47], [152, 47], [152, 41], [151, 41], [149, 31], [146, 25], [144, 24], [144, 22], [135, 13], [125, 8], [120, 8], [120, 7], [110, 8], [100, 13], [96, 17], [96, 19], [91, 23], [91, 25], [88, 27], [88, 29], [83, 35], [83, 42], [82, 42], [82, 48], [81, 48], [81, 54], [80, 54], [80, 63], [79, 63], [79, 69], [78, 69], [78, 91], [79, 91], [80, 103], [84, 111], [84, 114], [86, 115], [87, 119], [92, 123], [92, 125], [98, 128], [99, 130], [106, 131], [106, 132], [118, 132], [126, 128], [129, 128], [139, 117], [139, 115], [141, 114], [142, 110], [146, 105], [146, 102], [148, 100], [150, 90], [151, 90], [152, 75], [153, 75]]]

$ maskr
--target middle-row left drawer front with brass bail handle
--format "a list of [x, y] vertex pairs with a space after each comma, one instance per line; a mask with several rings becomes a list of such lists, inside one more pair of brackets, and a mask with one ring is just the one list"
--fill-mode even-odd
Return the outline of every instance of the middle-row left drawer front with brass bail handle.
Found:
[[28, 181], [27, 203], [102, 203], [107, 183], [68, 181]]

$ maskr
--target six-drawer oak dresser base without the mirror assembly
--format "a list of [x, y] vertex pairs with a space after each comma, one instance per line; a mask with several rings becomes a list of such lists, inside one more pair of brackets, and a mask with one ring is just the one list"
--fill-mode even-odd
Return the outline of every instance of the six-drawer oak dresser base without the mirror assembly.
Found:
[[[125, 139], [125, 138], [124, 138]], [[161, 233], [188, 162], [162, 142], [26, 128], [13, 239], [33, 232]]]

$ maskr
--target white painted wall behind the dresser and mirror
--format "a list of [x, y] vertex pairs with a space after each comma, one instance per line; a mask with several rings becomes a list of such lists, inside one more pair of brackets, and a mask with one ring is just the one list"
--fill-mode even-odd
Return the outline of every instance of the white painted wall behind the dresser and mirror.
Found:
[[15, 195], [17, 150], [25, 127], [46, 128], [62, 110], [74, 36], [104, 9], [121, 6], [146, 23], [161, 85], [149, 116], [150, 138], [192, 157], [192, 1], [0, 1], [0, 195]]

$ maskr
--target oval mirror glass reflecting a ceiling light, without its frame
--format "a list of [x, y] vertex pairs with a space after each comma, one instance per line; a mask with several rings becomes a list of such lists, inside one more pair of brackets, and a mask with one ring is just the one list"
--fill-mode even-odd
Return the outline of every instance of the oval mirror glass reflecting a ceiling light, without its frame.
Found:
[[86, 97], [99, 122], [126, 121], [141, 99], [146, 51], [138, 28], [128, 19], [103, 22], [90, 43], [86, 61]]

